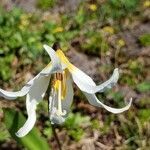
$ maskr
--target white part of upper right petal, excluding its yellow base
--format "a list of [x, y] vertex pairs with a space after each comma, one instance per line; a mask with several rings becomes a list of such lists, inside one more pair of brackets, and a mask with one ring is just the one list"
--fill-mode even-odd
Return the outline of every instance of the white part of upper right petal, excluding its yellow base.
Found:
[[104, 90], [111, 88], [117, 83], [119, 78], [118, 68], [114, 70], [109, 80], [105, 81], [104, 83], [98, 86], [96, 86], [94, 81], [88, 75], [86, 75], [83, 71], [79, 70], [76, 67], [73, 71], [71, 71], [71, 74], [73, 81], [77, 84], [81, 91], [91, 94], [96, 92], [103, 92]]

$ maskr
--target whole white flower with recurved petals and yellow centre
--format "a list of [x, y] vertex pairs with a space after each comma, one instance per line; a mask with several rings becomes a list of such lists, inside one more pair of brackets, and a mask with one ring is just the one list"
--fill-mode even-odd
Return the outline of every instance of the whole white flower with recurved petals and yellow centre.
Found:
[[18, 137], [25, 136], [33, 128], [36, 121], [36, 106], [43, 99], [50, 84], [50, 78], [52, 85], [49, 97], [49, 117], [52, 124], [62, 124], [70, 111], [73, 101], [72, 81], [75, 82], [87, 97], [89, 103], [94, 106], [103, 107], [115, 114], [129, 109], [132, 98], [125, 107], [117, 109], [105, 105], [95, 95], [96, 92], [103, 92], [117, 83], [119, 78], [117, 68], [109, 80], [97, 86], [88, 75], [71, 64], [60, 49], [55, 52], [47, 45], [44, 45], [44, 48], [49, 54], [51, 62], [37, 76], [18, 92], [0, 89], [0, 96], [6, 99], [15, 99], [26, 95], [28, 119], [24, 126], [16, 133]]

